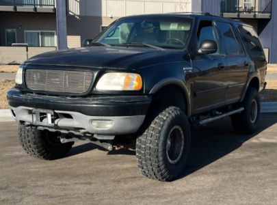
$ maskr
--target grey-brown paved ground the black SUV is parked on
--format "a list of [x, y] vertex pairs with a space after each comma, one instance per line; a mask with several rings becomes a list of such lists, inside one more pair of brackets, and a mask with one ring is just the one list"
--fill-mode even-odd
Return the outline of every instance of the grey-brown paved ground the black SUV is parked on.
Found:
[[262, 114], [253, 135], [230, 119], [192, 127], [184, 172], [174, 182], [140, 174], [135, 152], [75, 143], [63, 159], [42, 161], [19, 145], [15, 122], [0, 122], [0, 204], [191, 204], [277, 202], [277, 117]]

